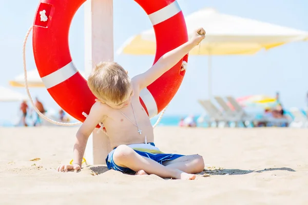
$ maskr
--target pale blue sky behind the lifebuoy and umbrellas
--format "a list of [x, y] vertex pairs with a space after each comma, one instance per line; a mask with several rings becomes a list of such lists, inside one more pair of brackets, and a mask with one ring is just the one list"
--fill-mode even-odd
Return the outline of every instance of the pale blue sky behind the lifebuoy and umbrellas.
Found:
[[[0, 86], [26, 94], [24, 88], [12, 88], [9, 80], [23, 73], [22, 45], [28, 28], [32, 25], [37, 0], [2, 1], [0, 3]], [[217, 11], [262, 22], [308, 31], [308, 1], [305, 0], [178, 0], [184, 15], [210, 7]], [[114, 50], [125, 40], [151, 28], [142, 8], [134, 1], [113, 0]], [[204, 28], [206, 30], [206, 28]], [[31, 35], [26, 59], [27, 69], [36, 69]], [[74, 64], [84, 70], [84, 8], [74, 16], [69, 34], [70, 52]], [[308, 91], [308, 42], [286, 44], [255, 55], [213, 56], [212, 90], [214, 95], [241, 97], [253, 94], [274, 96], [280, 92], [285, 108], [306, 106]], [[144, 72], [154, 56], [114, 55], [114, 60], [129, 71], [131, 76]], [[31, 88], [47, 109], [59, 106], [44, 88]], [[183, 83], [172, 99], [166, 115], [204, 114], [197, 103], [207, 98], [207, 56], [190, 56]], [[0, 103], [0, 120], [16, 116], [19, 103]]]

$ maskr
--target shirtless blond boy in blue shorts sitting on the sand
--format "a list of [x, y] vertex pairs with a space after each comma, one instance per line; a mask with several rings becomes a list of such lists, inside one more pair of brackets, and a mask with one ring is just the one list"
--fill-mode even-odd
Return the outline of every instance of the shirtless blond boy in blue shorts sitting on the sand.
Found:
[[73, 165], [60, 165], [57, 171], [81, 169], [88, 137], [99, 122], [103, 122], [113, 148], [106, 158], [108, 169], [195, 179], [194, 174], [204, 169], [202, 156], [164, 154], [156, 148], [153, 128], [140, 104], [139, 93], [175, 66], [204, 37], [203, 28], [196, 30], [187, 43], [166, 53], [149, 70], [132, 79], [117, 63], [98, 64], [88, 78], [88, 86], [97, 102], [76, 134]]

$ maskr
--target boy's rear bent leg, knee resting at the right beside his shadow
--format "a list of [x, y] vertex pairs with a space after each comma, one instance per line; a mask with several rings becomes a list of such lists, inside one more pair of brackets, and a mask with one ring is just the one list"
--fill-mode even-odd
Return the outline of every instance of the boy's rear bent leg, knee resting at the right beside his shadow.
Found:
[[168, 168], [179, 169], [189, 174], [200, 173], [204, 169], [203, 157], [195, 155], [186, 155], [175, 160], [164, 161], [163, 165]]

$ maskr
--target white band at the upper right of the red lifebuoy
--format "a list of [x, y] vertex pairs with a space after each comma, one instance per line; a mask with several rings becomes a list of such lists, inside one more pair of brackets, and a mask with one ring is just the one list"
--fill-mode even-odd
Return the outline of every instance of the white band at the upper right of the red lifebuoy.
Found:
[[172, 2], [168, 6], [149, 14], [149, 18], [152, 22], [152, 25], [157, 25], [159, 23], [164, 22], [165, 20], [171, 18], [181, 11], [180, 5], [177, 1]]

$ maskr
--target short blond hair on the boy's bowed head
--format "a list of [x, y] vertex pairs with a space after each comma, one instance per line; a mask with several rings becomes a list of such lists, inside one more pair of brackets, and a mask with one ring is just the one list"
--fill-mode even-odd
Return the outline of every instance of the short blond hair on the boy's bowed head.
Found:
[[88, 78], [92, 93], [102, 101], [123, 103], [130, 95], [130, 78], [115, 62], [101, 62]]

